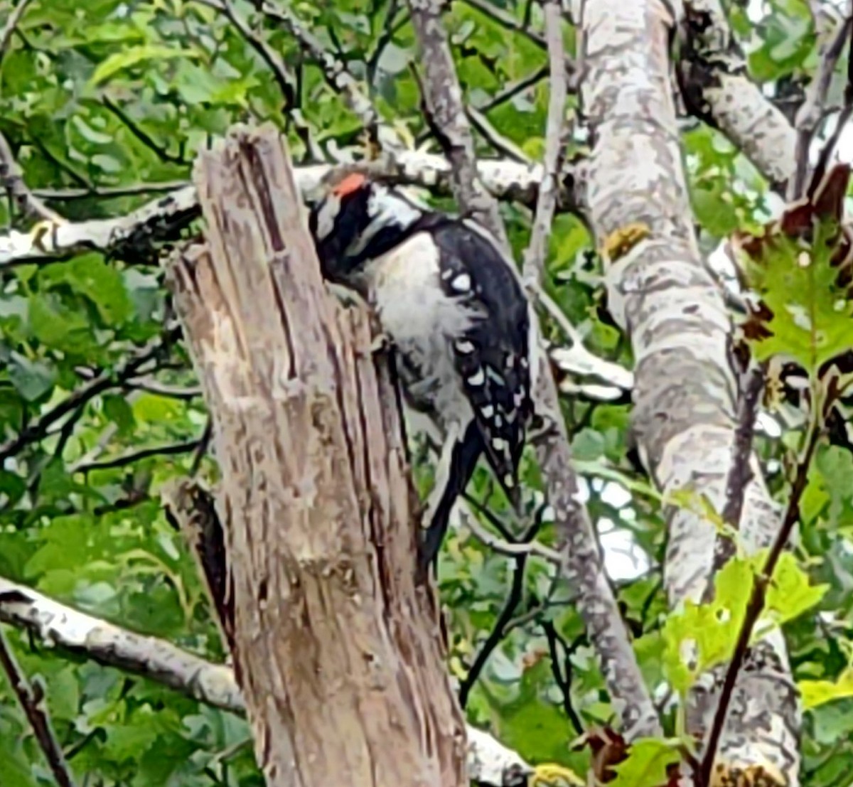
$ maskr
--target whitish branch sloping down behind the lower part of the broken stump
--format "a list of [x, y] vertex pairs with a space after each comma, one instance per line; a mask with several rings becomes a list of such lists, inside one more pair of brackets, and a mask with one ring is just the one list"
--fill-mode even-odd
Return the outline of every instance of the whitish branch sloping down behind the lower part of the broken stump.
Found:
[[[45, 643], [58, 645], [106, 667], [155, 680], [213, 708], [244, 715], [246, 708], [234, 672], [194, 656], [165, 639], [136, 634], [86, 615], [0, 577], [0, 621], [25, 628]], [[518, 784], [531, 767], [488, 733], [467, 726], [468, 775], [478, 784]]]

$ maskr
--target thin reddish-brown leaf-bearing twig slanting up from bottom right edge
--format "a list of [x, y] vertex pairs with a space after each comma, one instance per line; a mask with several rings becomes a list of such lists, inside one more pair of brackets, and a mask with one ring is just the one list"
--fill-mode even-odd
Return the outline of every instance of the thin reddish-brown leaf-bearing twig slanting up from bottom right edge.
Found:
[[702, 758], [699, 784], [705, 785], [705, 787], [708, 787], [708, 785], [711, 784], [711, 770], [714, 767], [714, 759], [717, 756], [717, 746], [720, 743], [722, 728], [726, 722], [728, 704], [731, 702], [734, 684], [738, 679], [740, 667], [743, 665], [744, 659], [746, 658], [746, 650], [749, 648], [752, 629], [755, 627], [758, 616], [761, 615], [762, 609], [764, 608], [764, 599], [767, 596], [767, 586], [773, 577], [776, 563], [779, 563], [779, 558], [781, 557], [782, 552], [785, 551], [785, 546], [791, 536], [794, 525], [797, 524], [799, 519], [800, 500], [803, 497], [805, 487], [809, 481], [809, 467], [811, 465], [811, 460], [815, 455], [815, 449], [817, 448], [820, 438], [821, 426], [819, 422], [815, 421], [809, 429], [809, 436], [805, 450], [797, 466], [797, 476], [794, 478], [794, 482], [791, 487], [791, 496], [788, 498], [785, 518], [782, 520], [779, 533], [777, 533], [775, 541], [770, 547], [770, 551], [761, 570], [761, 574], [758, 574], [755, 577], [755, 581], [752, 585], [750, 599], [746, 604], [744, 621], [740, 627], [740, 634], [738, 635], [737, 642], [734, 645], [732, 660], [728, 663], [728, 669], [726, 670], [726, 676], [722, 683], [722, 690], [720, 691], [720, 701], [717, 704], [717, 711], [714, 714], [711, 732], [708, 736], [708, 744], [705, 748], [705, 755]]

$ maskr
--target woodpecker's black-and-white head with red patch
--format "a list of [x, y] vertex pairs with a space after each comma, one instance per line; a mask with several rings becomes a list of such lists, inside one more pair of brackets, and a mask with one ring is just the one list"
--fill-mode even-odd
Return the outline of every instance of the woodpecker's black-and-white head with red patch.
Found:
[[347, 175], [311, 208], [308, 226], [323, 276], [350, 283], [369, 259], [399, 243], [424, 209], [397, 190]]

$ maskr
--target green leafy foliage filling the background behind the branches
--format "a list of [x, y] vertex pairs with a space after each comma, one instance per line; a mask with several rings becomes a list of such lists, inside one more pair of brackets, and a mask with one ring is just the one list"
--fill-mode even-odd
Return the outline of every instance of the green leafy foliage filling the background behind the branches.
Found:
[[[817, 62], [807, 5], [748, 5], [732, 3], [734, 31], [752, 77], [788, 109]], [[333, 160], [358, 146], [359, 121], [293, 36], [250, 3], [230, 8], [229, 17], [197, 0], [29, 3], [0, 64], [0, 132], [26, 184], [68, 219], [109, 217], [186, 182], [194, 154], [237, 121], [280, 125], [298, 163]], [[11, 9], [0, 0], [0, 20]], [[437, 150], [409, 67], [415, 45], [404, 3], [333, 0], [291, 9], [368, 85], [384, 120]], [[489, 125], [478, 133], [479, 154], [537, 159], [548, 102], [539, 6], [456, 2], [446, 23], [466, 102]], [[565, 36], [572, 52], [568, 22]], [[264, 47], [280, 55], [283, 79], [270, 71]], [[767, 184], [738, 150], [688, 118], [682, 142], [705, 250], [766, 220]], [[571, 152], [583, 154], [580, 137]], [[510, 204], [502, 211], [520, 255], [530, 215]], [[12, 201], [0, 201], [0, 224], [23, 226]], [[153, 262], [90, 253], [2, 271], [0, 575], [221, 661], [194, 563], [160, 501], [165, 481], [194, 469], [212, 479], [216, 469], [199, 450], [204, 403], [187, 354], [165, 328], [170, 305]], [[600, 273], [583, 223], [560, 214], [546, 288], [589, 350], [630, 366], [627, 342], [602, 307]], [[564, 341], [556, 325], [547, 322], [545, 330], [555, 344]], [[128, 377], [128, 359], [141, 354], [148, 360]], [[105, 382], [98, 386], [98, 379]], [[575, 396], [566, 399], [565, 414], [624, 616], [671, 731], [677, 697], [664, 681], [672, 644], [666, 637], [699, 624], [664, 625], [662, 510], [626, 458], [628, 405]], [[765, 434], [759, 446], [780, 500], [801, 428], [796, 418], [784, 423], [780, 436]], [[788, 567], [797, 581], [806, 571], [812, 586], [827, 587], [802, 609], [781, 610], [793, 617], [785, 633], [796, 678], [816, 681], [802, 744], [809, 787], [845, 784], [853, 767], [853, 458], [841, 443], [821, 446], [811, 469], [796, 560]], [[532, 465], [526, 481], [539, 486]], [[476, 487], [500, 515], [488, 473], [478, 475]], [[547, 522], [537, 537], [553, 543]], [[516, 563], [464, 528], [444, 547], [440, 577], [450, 669], [466, 692], [469, 720], [529, 761], [583, 772], [589, 755], [572, 749], [572, 741], [582, 729], [610, 722], [612, 711], [572, 588], [555, 582], [538, 558]], [[79, 784], [261, 784], [247, 726], [234, 715], [7, 633], [22, 667], [47, 686]], [[714, 636], [717, 644], [730, 637]], [[479, 663], [485, 648], [488, 658]], [[0, 781], [49, 783], [4, 679], [0, 695]]]

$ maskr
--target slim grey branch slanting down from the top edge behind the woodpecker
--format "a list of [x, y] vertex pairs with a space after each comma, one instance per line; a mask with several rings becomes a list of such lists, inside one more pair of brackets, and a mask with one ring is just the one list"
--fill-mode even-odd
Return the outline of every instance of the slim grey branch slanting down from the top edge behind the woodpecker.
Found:
[[[463, 211], [473, 213], [491, 230], [503, 248], [509, 251], [507, 234], [497, 202], [478, 183], [473, 138], [462, 103], [461, 88], [456, 77], [447, 32], [441, 19], [444, 3], [442, 0], [409, 0], [409, 9], [412, 25], [421, 45], [421, 54], [425, 58], [424, 70], [427, 79], [423, 90], [426, 93], [427, 108], [432, 114], [433, 124], [438, 125], [436, 132], [444, 137], [443, 143], [450, 160], [456, 201]], [[552, 115], [554, 124], [557, 124], [557, 120], [562, 120], [556, 108], [549, 114]], [[553, 154], [552, 150], [552, 158]], [[551, 166], [554, 166], [554, 163], [552, 161]], [[543, 172], [542, 168], [540, 172]], [[540, 178], [542, 177], [543, 175], [540, 175]], [[555, 187], [556, 183], [552, 178], [548, 186], [543, 188], [546, 204], [543, 211], [541, 194], [537, 207], [539, 218], [544, 212], [553, 210], [554, 206], [548, 206], [553, 195], [549, 196], [548, 192]], [[533, 255], [543, 254], [544, 248], [544, 242], [542, 248], [536, 248], [536, 235], [543, 234], [546, 229], [540, 226], [536, 230], [532, 244], [534, 248], [531, 250], [531, 264], [527, 267], [528, 276], [534, 279], [541, 273], [543, 260], [533, 259]], [[541, 347], [542, 337], [538, 329], [533, 341], [537, 341]], [[538, 367], [533, 395], [535, 406], [539, 415], [552, 425], [552, 434], [537, 443], [537, 458], [545, 476], [548, 502], [554, 509], [554, 522], [562, 541], [563, 570], [572, 586], [577, 589], [577, 607], [583, 617], [589, 639], [595, 645], [612, 705], [622, 722], [625, 736], [628, 739], [653, 736], [660, 732], [658, 714], [643, 683], [634, 651], [631, 650], [627, 628], [619, 615], [616, 598], [604, 572], [589, 513], [580, 498], [577, 473], [572, 466], [566, 423], [560, 413], [554, 376], [545, 363], [544, 355], [534, 361], [534, 364]]]

